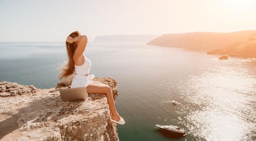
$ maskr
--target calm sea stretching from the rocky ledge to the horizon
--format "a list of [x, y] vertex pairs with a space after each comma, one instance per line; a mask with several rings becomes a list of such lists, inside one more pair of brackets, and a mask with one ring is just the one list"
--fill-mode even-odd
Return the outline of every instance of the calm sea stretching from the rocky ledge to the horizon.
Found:
[[[121, 141], [256, 140], [256, 61], [146, 43], [89, 42], [90, 74], [117, 81]], [[0, 81], [56, 87], [63, 43], [1, 43]], [[171, 103], [178, 102], [177, 105]], [[176, 125], [177, 137], [156, 124]]]

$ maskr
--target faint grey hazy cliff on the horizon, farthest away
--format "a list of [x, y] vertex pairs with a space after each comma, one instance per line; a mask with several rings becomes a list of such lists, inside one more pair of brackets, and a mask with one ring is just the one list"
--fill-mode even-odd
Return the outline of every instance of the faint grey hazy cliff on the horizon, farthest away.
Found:
[[94, 42], [148, 42], [158, 35], [104, 35], [96, 36]]

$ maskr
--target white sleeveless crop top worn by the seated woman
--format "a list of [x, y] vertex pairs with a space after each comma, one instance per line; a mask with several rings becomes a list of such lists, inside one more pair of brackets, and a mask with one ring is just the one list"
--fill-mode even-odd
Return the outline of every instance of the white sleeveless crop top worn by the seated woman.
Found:
[[83, 54], [84, 58], [85, 58], [85, 62], [83, 65], [81, 66], [76, 66], [75, 65], [75, 73], [77, 75], [86, 75], [90, 72], [91, 69], [91, 60], [89, 58], [87, 58], [85, 56], [85, 54]]

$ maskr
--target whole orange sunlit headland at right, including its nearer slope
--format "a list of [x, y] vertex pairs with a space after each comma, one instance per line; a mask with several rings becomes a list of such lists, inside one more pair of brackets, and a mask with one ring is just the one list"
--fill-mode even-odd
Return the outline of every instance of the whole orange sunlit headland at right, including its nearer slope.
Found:
[[213, 50], [208, 54], [226, 54], [256, 58], [256, 30], [230, 33], [193, 32], [164, 34], [147, 45]]

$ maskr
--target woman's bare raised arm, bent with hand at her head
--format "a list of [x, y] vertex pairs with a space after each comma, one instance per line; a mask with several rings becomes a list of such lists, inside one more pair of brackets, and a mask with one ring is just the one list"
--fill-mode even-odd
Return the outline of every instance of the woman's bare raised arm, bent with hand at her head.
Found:
[[78, 42], [78, 45], [77, 45], [77, 48], [76, 48], [76, 51], [74, 53], [74, 58], [78, 58], [80, 57], [83, 52], [85, 51], [85, 47], [87, 45], [87, 37], [86, 35], [80, 35], [80, 36], [77, 36], [75, 38], [72, 38], [72, 37], [68, 37], [69, 39], [67, 39], [67, 41], [69, 43], [74, 43], [74, 42]]

